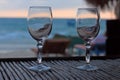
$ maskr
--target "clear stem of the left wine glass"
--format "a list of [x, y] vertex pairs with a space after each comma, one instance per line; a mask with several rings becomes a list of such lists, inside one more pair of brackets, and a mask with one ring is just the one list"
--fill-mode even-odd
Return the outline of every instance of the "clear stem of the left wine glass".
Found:
[[42, 47], [43, 47], [43, 40], [40, 40], [40, 41], [37, 42], [37, 49], [38, 49], [37, 61], [38, 61], [39, 64], [42, 63], [42, 55], [41, 55]]

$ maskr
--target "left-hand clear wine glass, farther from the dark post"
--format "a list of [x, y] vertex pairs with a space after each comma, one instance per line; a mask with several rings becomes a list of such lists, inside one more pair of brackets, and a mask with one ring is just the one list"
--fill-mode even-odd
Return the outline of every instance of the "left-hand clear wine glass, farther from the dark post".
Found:
[[28, 11], [28, 31], [33, 39], [37, 41], [38, 65], [29, 67], [33, 71], [46, 71], [50, 67], [42, 64], [42, 47], [45, 39], [52, 30], [52, 10], [48, 6], [31, 6]]

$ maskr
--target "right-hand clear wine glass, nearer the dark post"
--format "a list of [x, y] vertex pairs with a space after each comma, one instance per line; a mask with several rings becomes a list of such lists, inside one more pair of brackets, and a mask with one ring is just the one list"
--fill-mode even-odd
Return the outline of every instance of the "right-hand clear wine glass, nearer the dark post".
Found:
[[98, 69], [98, 67], [90, 64], [90, 49], [91, 41], [98, 35], [100, 30], [99, 19], [100, 16], [97, 8], [78, 8], [77, 10], [76, 28], [79, 37], [85, 42], [85, 59], [87, 63], [78, 66], [78, 69], [87, 71]]

